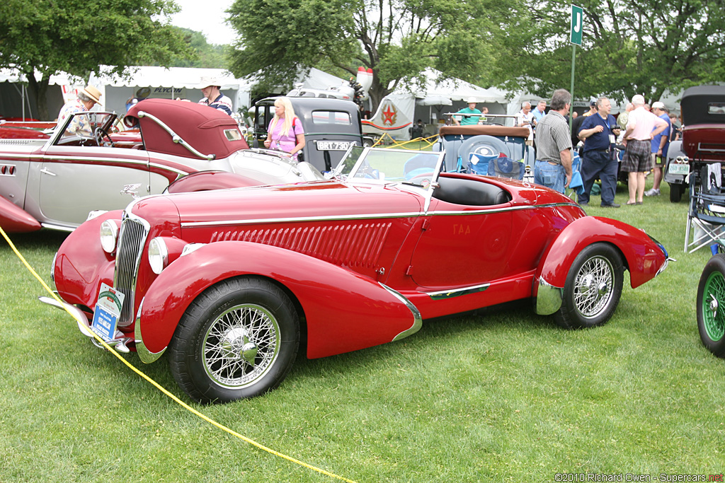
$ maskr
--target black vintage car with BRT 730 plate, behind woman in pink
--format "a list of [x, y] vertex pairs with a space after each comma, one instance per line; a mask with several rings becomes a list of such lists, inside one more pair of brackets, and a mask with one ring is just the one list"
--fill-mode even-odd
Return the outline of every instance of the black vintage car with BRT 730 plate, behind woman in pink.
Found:
[[[276, 99], [268, 97], [254, 104], [255, 147], [263, 147], [262, 142], [267, 138]], [[289, 97], [289, 100], [305, 130], [304, 160], [320, 171], [337, 166], [350, 146], [366, 145], [360, 110], [354, 102], [320, 97]]]

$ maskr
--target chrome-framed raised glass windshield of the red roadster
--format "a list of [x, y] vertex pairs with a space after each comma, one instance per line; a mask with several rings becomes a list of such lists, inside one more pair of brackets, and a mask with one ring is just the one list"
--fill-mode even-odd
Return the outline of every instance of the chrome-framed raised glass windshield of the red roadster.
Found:
[[336, 167], [334, 175], [428, 188], [437, 179], [442, 162], [443, 153], [440, 152], [353, 146]]

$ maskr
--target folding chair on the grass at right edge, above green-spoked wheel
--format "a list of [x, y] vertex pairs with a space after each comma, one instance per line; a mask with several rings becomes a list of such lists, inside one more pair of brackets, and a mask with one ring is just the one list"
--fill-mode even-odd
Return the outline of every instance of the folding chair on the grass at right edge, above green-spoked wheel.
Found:
[[690, 173], [684, 251], [692, 253], [712, 245], [725, 234], [725, 193], [720, 163], [697, 163]]

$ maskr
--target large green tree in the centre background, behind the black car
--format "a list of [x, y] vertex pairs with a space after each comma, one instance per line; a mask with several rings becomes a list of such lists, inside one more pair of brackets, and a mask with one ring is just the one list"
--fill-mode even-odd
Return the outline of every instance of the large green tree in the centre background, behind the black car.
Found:
[[485, 83], [510, 12], [495, 0], [236, 0], [228, 10], [239, 33], [231, 70], [289, 85], [319, 64], [350, 75], [369, 67], [375, 109], [426, 67]]

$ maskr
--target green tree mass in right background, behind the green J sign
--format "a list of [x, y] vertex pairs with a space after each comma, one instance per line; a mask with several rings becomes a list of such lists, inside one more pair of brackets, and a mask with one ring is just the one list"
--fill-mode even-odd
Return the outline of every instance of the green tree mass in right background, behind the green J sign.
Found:
[[[575, 96], [635, 93], [657, 101], [669, 89], [721, 82], [725, 9], [721, 0], [582, 0], [584, 35], [576, 49]], [[508, 51], [497, 75], [509, 87], [547, 96], [571, 83], [568, 0], [538, 0], [521, 25], [521, 51]], [[513, 62], [511, 62], [513, 61]], [[521, 67], [510, 75], [510, 65]]]

